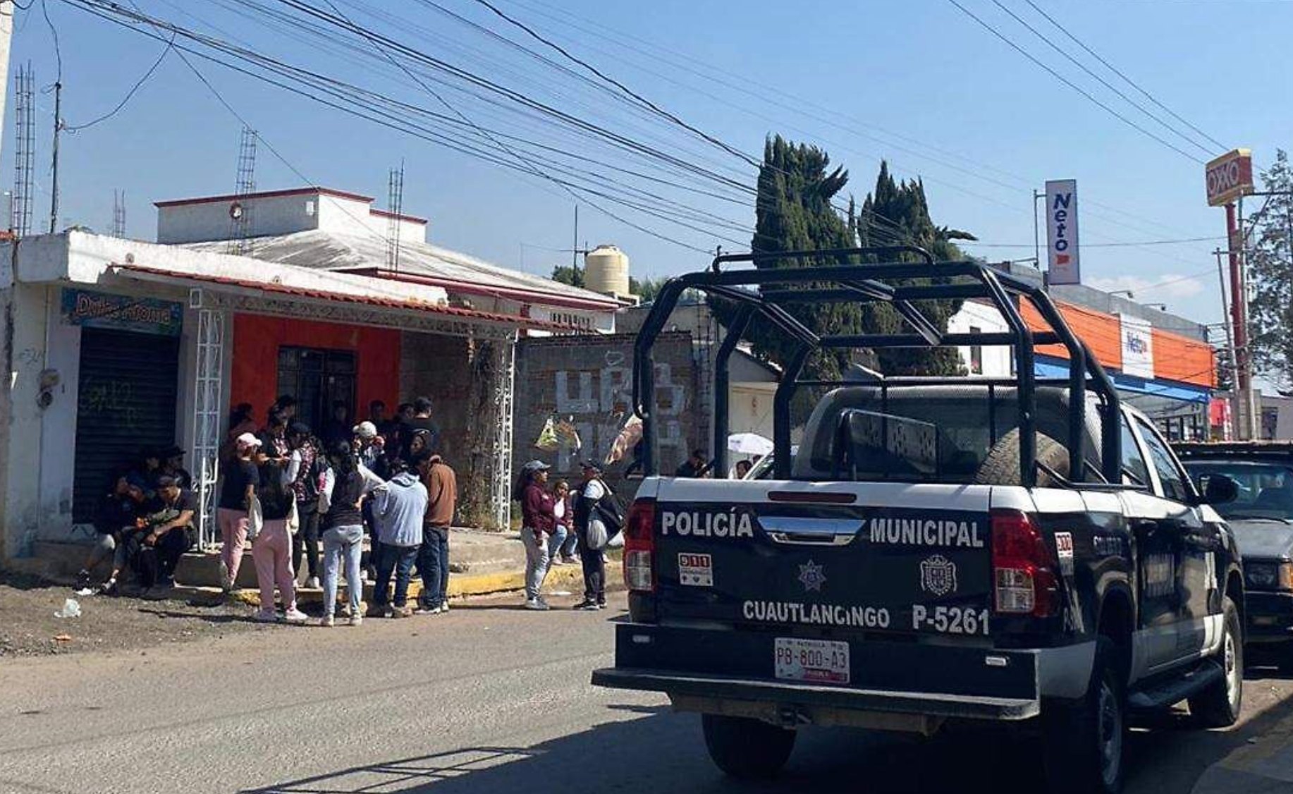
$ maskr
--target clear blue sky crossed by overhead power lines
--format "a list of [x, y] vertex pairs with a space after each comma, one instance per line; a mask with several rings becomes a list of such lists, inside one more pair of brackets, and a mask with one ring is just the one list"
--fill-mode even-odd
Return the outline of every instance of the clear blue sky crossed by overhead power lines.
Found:
[[[372, 59], [375, 53], [352, 53], [343, 59], [308, 36], [288, 36], [238, 16], [237, 0], [137, 1], [154, 16], [224, 31], [217, 35], [244, 39], [284, 61], [443, 111], [407, 75]], [[587, 85], [577, 87], [557, 72], [524, 62], [498, 41], [422, 1], [336, 1], [356, 21], [412, 47], [754, 182], [754, 169], [738, 159], [678, 128], [631, 116]], [[1222, 211], [1204, 202], [1202, 166], [1095, 107], [945, 0], [570, 0], [557, 8], [540, 5], [557, 0], [498, 1], [573, 53], [741, 150], [758, 155], [764, 136], [778, 131], [820, 144], [834, 162], [848, 167], [851, 189], [859, 199], [871, 186], [879, 159], [888, 158], [899, 176], [924, 178], [936, 222], [970, 230], [989, 243], [1028, 244], [974, 248], [993, 259], [1032, 255], [1031, 190], [1047, 178], [1078, 180], [1085, 243], [1223, 233]], [[1102, 101], [1157, 134], [1170, 136], [1063, 61], [992, 0], [961, 1]], [[1293, 67], [1284, 34], [1293, 25], [1293, 3], [1034, 1], [1192, 124], [1228, 146], [1250, 146], [1258, 167], [1270, 162], [1276, 147], [1289, 145]], [[262, 3], [278, 6], [275, 0]], [[326, 8], [325, 0], [313, 3]], [[438, 3], [540, 48], [472, 0]], [[1065, 49], [1081, 54], [1024, 0], [1002, 3]], [[372, 17], [372, 8], [397, 9], [390, 13], [401, 19]], [[34, 0], [31, 10], [18, 12], [13, 63], [30, 59], [37, 87], [44, 88], [53, 81], [57, 66], [50, 31], [39, 10], [40, 0]], [[62, 0], [48, 0], [48, 10], [61, 38], [63, 113], [69, 124], [81, 124], [110, 110], [162, 50], [159, 43], [89, 17]], [[560, 59], [551, 50], [547, 54]], [[361, 63], [363, 57], [370, 59]], [[403, 158], [403, 208], [431, 219], [433, 242], [508, 266], [522, 265], [526, 244], [530, 247], [524, 248], [524, 268], [533, 272], [547, 272], [552, 264], [569, 260], [569, 255], [543, 250], [569, 247], [572, 235], [574, 200], [552, 185], [321, 107], [219, 66], [197, 63], [261, 136], [313, 182], [376, 195], [383, 206], [387, 171]], [[723, 72], [706, 71], [710, 67]], [[1115, 80], [1108, 72], [1100, 74]], [[1121, 87], [1143, 101], [1134, 89]], [[451, 89], [443, 96], [480, 124], [521, 136], [542, 129], [537, 122], [500, 115]], [[49, 209], [53, 96], [41, 93], [36, 101], [40, 136], [34, 215], [40, 226], [48, 222]], [[3, 181], [8, 185], [13, 173], [12, 113], [5, 127]], [[151, 239], [153, 200], [234, 188], [239, 128], [239, 122], [194, 75], [173, 54], [168, 56], [120, 114], [63, 137], [62, 222], [107, 229], [112, 190], [124, 189], [128, 233]], [[631, 164], [623, 156], [610, 162]], [[303, 182], [264, 147], [256, 177], [261, 189]], [[687, 202], [753, 225], [749, 206], [694, 194]], [[617, 212], [701, 248], [712, 248], [718, 242], [635, 211]], [[702, 255], [630, 229], [591, 207], [581, 211], [581, 242], [619, 244], [632, 257], [636, 274], [672, 274], [705, 264]], [[732, 237], [749, 244], [749, 233]], [[736, 247], [723, 244], [727, 250]], [[1140, 300], [1166, 301], [1175, 312], [1212, 322], [1221, 317], [1215, 274], [1146, 286], [1206, 272], [1214, 265], [1209, 252], [1217, 244], [1219, 241], [1091, 247], [1084, 250], [1084, 274], [1107, 288], [1140, 287]]]

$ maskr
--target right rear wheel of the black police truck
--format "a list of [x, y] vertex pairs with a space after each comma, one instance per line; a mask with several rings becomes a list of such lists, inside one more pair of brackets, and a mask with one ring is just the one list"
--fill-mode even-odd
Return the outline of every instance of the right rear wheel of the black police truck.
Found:
[[1095, 643], [1086, 696], [1074, 703], [1046, 703], [1042, 711], [1046, 782], [1056, 794], [1122, 789], [1125, 681], [1113, 640], [1100, 636]]

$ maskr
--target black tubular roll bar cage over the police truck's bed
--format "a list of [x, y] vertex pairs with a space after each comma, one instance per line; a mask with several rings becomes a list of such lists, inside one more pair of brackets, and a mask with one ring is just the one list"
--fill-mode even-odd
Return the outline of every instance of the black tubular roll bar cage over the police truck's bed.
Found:
[[[878, 264], [843, 264], [813, 268], [731, 269], [723, 265], [759, 263], [769, 260], [896, 257], [915, 255], [919, 263], [882, 261]], [[892, 279], [937, 279], [932, 283], [890, 284]], [[946, 279], [946, 281], [943, 281]], [[952, 279], [961, 279], [952, 282]], [[751, 290], [750, 287], [756, 287]], [[772, 287], [772, 288], [768, 288]], [[1113, 381], [1095, 359], [1086, 344], [1073, 334], [1050, 296], [1037, 286], [1010, 274], [1001, 273], [975, 261], [936, 263], [915, 246], [884, 246], [869, 248], [833, 248], [822, 251], [778, 251], [753, 253], [724, 253], [715, 256], [709, 270], [689, 273], [668, 279], [634, 344], [634, 413], [643, 423], [640, 463], [648, 477], [659, 473], [656, 427], [656, 365], [652, 348], [665, 328], [668, 316], [685, 290], [700, 290], [733, 301], [736, 316], [715, 354], [714, 388], [714, 458], [715, 469], [727, 471], [728, 450], [728, 361], [737, 343], [755, 318], [777, 327], [798, 343], [785, 363], [781, 381], [773, 397], [773, 476], [790, 477], [790, 402], [802, 385], [866, 385], [866, 381], [802, 380], [799, 375], [808, 357], [820, 349], [840, 348], [937, 348], [957, 345], [1010, 347], [1015, 353], [1018, 375], [1012, 379], [985, 379], [961, 376], [882, 378], [875, 383], [882, 391], [888, 387], [915, 384], [980, 384], [989, 392], [996, 387], [1018, 388], [1019, 407], [1019, 466], [1020, 482], [1037, 484], [1037, 396], [1034, 353], [1041, 344], [1059, 344], [1068, 352], [1068, 378], [1046, 379], [1046, 384], [1063, 384], [1069, 391], [1068, 415], [1068, 478], [1073, 482], [1087, 480], [1086, 463], [1086, 392], [1093, 391], [1100, 400], [1100, 471], [1091, 472], [1104, 484], [1122, 481], [1121, 409]], [[976, 297], [988, 300], [1006, 321], [1005, 332], [948, 334], [939, 331], [913, 301]], [[1050, 331], [1033, 331], [1019, 312], [1016, 300], [1028, 300]], [[860, 334], [818, 336], [790, 312], [786, 304], [798, 303], [888, 303], [910, 327], [908, 334]], [[989, 411], [989, 414], [994, 414]], [[996, 438], [996, 433], [993, 433]]]

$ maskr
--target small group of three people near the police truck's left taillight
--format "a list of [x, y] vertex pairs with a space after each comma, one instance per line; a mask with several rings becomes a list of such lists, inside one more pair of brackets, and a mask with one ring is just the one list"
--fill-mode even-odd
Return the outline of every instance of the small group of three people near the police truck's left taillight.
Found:
[[525, 544], [525, 608], [550, 609], [543, 581], [552, 565], [583, 566], [583, 601], [575, 609], [606, 608], [608, 546], [623, 529], [623, 513], [601, 467], [582, 464], [583, 481], [573, 490], [565, 481], [548, 488], [547, 463], [530, 460], [521, 467], [513, 498], [521, 503], [521, 542]]

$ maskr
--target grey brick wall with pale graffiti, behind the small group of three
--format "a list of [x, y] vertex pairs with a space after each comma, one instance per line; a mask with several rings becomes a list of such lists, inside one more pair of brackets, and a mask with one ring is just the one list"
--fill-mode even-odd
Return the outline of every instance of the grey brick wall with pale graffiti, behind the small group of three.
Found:
[[[632, 398], [632, 334], [548, 336], [517, 345], [513, 471], [526, 460], [553, 464], [552, 478], [578, 478], [581, 458], [603, 459]], [[710, 447], [709, 411], [700, 405], [692, 338], [662, 334], [656, 341], [661, 424], [659, 471], [671, 473], [689, 449]], [[621, 414], [621, 415], [617, 415]], [[583, 449], [544, 453], [534, 446], [548, 416], [573, 416]], [[608, 469], [617, 482], [627, 462]], [[621, 489], [623, 490], [623, 489]], [[631, 494], [621, 493], [622, 497]]]

